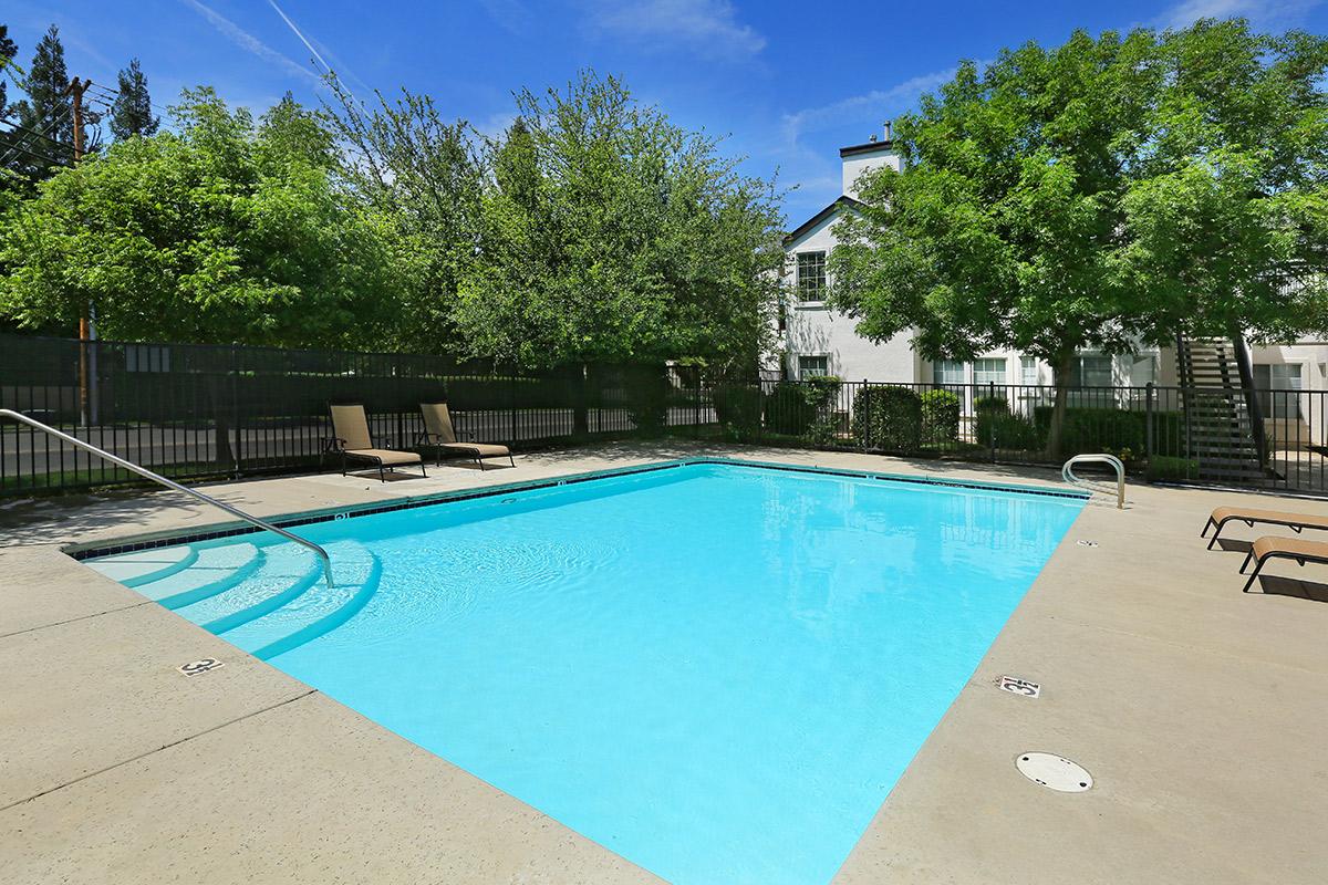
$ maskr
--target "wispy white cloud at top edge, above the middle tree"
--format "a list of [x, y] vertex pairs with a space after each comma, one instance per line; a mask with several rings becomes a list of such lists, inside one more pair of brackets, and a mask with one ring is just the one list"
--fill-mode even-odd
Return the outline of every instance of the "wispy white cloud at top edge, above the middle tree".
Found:
[[681, 45], [706, 56], [748, 58], [765, 49], [765, 37], [738, 21], [729, 0], [596, 0], [588, 27], [647, 48]]

